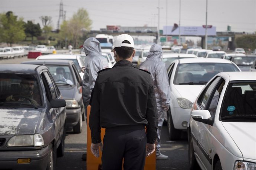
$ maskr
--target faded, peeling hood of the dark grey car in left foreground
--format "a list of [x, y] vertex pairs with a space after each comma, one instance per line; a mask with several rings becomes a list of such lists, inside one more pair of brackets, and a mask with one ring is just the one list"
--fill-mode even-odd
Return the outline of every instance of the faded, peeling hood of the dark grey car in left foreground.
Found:
[[42, 109], [0, 109], [0, 135], [34, 134]]

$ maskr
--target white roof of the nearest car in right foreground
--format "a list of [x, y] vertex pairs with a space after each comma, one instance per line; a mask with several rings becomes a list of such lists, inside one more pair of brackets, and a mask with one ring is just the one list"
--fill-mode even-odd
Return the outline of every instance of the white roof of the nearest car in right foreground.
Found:
[[226, 77], [229, 81], [256, 80], [256, 71], [220, 72], [217, 75]]

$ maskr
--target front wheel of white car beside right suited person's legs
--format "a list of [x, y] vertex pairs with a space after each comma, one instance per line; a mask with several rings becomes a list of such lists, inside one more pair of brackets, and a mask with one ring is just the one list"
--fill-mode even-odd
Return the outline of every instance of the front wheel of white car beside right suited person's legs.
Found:
[[171, 110], [167, 111], [167, 126], [168, 126], [168, 137], [170, 140], [180, 139], [180, 130], [175, 129], [173, 125], [173, 119], [171, 117]]

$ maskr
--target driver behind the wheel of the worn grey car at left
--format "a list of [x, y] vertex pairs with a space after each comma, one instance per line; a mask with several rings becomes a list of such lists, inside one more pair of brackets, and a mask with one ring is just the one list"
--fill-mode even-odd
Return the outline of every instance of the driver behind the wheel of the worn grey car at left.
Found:
[[35, 81], [30, 79], [22, 79], [20, 82], [20, 93], [19, 95], [10, 95], [6, 98], [6, 101], [24, 101], [31, 103], [32, 105], [38, 106], [38, 103], [33, 99]]

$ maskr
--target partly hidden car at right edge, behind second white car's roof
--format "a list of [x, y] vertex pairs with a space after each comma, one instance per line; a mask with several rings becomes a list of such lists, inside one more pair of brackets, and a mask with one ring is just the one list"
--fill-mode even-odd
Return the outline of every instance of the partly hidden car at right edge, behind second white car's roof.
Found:
[[234, 56], [230, 58], [242, 71], [249, 71], [251, 65], [256, 59], [256, 55], [246, 55], [246, 56]]

